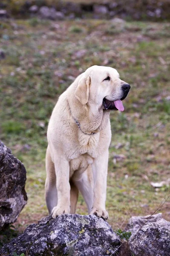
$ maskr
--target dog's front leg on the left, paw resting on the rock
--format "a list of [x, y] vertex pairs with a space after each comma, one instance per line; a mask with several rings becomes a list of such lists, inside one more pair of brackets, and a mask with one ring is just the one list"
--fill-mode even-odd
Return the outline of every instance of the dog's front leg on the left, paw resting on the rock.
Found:
[[55, 157], [55, 174], [58, 202], [52, 209], [52, 217], [70, 213], [69, 162], [62, 156]]

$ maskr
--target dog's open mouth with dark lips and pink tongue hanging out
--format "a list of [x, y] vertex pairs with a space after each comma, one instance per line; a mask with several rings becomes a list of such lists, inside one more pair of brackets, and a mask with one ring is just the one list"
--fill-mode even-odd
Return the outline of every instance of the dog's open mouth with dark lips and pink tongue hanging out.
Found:
[[105, 109], [109, 109], [109, 110], [124, 111], [124, 105], [122, 103], [122, 100], [124, 100], [126, 97], [127, 97], [127, 95], [122, 97], [121, 99], [117, 99], [115, 101], [109, 101], [108, 99], [104, 98], [103, 106]]

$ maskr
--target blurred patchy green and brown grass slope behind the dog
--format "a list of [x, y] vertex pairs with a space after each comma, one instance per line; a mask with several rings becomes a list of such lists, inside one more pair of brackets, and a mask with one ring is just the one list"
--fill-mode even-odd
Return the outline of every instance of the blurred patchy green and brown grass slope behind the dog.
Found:
[[[48, 214], [44, 183], [49, 117], [72, 79], [95, 64], [116, 68], [132, 88], [124, 113], [110, 115], [109, 224], [123, 230], [131, 215], [151, 214], [169, 193], [166, 185], [150, 185], [167, 180], [170, 173], [168, 26], [113, 26], [111, 20], [0, 21], [0, 49], [6, 56], [0, 60], [0, 140], [27, 170], [29, 200], [14, 224], [16, 230]], [[78, 57], [82, 49], [86, 52]], [[170, 202], [161, 212], [170, 220]], [[81, 195], [77, 213], [87, 214]]]

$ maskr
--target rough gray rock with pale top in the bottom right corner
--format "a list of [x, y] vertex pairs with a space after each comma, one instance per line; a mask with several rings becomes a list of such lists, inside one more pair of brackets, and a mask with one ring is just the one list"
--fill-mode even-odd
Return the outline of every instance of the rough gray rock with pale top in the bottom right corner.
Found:
[[170, 222], [161, 213], [130, 218], [127, 231], [132, 232], [129, 245], [133, 255], [170, 255]]

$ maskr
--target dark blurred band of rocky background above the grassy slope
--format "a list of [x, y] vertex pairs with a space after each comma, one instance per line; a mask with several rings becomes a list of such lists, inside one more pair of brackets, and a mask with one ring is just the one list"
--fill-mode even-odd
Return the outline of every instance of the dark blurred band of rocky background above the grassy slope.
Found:
[[[16, 0], [1, 0], [0, 18], [10, 17], [10, 15], [27, 16], [28, 14], [34, 17], [32, 15], [38, 14], [41, 18], [51, 20], [62, 20], [73, 17], [73, 15], [79, 18], [91, 17], [99, 19], [110, 19], [112, 17], [153, 21], [170, 19], [169, 0], [126, 0], [126, 4], [124, 0], [103, 0], [103, 3], [101, 2], [100, 4], [97, 4], [95, 1], [85, 0], [81, 3], [72, 3], [71, 0], [20, 0], [17, 2], [16, 4]], [[41, 9], [42, 7], [43, 9]]]

